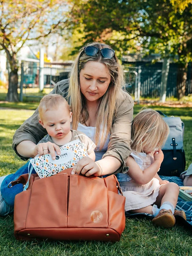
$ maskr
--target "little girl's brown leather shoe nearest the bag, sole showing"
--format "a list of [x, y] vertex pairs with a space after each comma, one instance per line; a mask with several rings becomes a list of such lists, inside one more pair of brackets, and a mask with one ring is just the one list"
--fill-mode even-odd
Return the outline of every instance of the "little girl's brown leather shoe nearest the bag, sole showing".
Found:
[[173, 227], [175, 225], [175, 217], [172, 214], [171, 210], [162, 209], [152, 222], [159, 227]]

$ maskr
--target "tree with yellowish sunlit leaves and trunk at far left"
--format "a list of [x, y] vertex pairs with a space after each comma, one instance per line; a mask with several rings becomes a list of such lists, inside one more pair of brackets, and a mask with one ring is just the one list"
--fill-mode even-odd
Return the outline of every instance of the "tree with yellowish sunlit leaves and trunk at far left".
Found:
[[19, 50], [29, 40], [67, 27], [69, 8], [64, 0], [0, 0], [0, 50], [5, 51], [11, 70], [7, 101], [18, 101]]

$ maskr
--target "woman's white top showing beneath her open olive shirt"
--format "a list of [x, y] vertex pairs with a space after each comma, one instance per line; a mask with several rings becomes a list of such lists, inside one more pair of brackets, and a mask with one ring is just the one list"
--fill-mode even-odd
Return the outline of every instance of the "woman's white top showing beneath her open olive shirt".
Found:
[[[94, 136], [95, 136], [96, 127], [85, 126], [85, 125], [79, 123], [77, 130], [86, 134], [95, 143]], [[102, 136], [102, 126], [100, 128], [100, 137], [101, 136]], [[99, 151], [100, 150], [100, 139], [99, 139], [99, 142], [97, 144], [96, 151], [95, 151], [95, 157], [96, 157], [95, 161], [100, 160], [102, 158], [102, 156], [104, 155], [104, 153], [106, 153], [107, 148], [108, 148], [109, 138], [110, 138], [110, 134], [108, 134], [108, 136], [107, 136], [107, 139], [102, 148], [102, 151]]]

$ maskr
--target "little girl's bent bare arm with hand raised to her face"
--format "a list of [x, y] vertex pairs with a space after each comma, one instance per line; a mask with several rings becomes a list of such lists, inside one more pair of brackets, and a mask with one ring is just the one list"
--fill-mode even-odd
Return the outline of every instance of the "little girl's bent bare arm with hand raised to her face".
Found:
[[139, 165], [136, 163], [136, 161], [133, 159], [132, 156], [129, 156], [127, 159], [127, 165], [129, 166], [129, 176], [138, 184], [144, 185], [147, 184], [149, 181], [151, 181], [158, 172], [161, 163], [163, 161], [164, 155], [162, 150], [160, 149], [157, 152], [154, 153], [154, 159], [155, 161], [144, 171], [140, 169]]

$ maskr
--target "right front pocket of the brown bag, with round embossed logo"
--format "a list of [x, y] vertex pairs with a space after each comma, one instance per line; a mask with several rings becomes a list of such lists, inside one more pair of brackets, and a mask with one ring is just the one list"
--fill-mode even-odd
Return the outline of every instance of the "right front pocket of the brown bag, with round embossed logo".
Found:
[[104, 181], [70, 175], [68, 227], [108, 227], [108, 194]]

